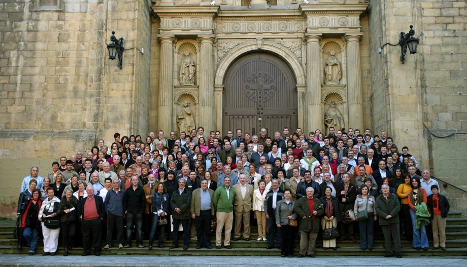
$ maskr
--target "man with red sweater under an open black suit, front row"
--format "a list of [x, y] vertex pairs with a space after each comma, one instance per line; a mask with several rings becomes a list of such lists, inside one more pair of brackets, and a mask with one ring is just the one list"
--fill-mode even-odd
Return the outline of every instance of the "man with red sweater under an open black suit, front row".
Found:
[[83, 227], [83, 247], [84, 253], [82, 256], [91, 255], [91, 240], [94, 245], [94, 255], [101, 255], [101, 235], [102, 235], [102, 220], [104, 218], [106, 208], [104, 201], [99, 196], [94, 196], [94, 187], [86, 186], [88, 196], [83, 198], [78, 205], [78, 214], [81, 218]]

